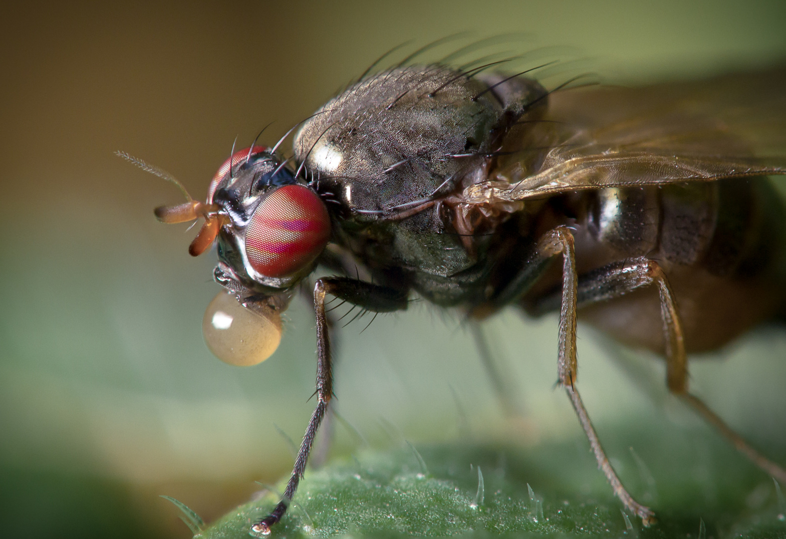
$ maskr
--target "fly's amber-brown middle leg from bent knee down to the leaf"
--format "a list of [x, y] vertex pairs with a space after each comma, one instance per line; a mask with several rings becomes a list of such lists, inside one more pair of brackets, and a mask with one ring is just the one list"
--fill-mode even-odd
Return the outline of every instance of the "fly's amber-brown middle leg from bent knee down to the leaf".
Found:
[[[589, 446], [592, 448], [597, 460], [598, 468], [601, 468], [606, 479], [612, 485], [612, 489], [625, 507], [634, 514], [641, 517], [645, 526], [655, 522], [655, 513], [644, 505], [639, 504], [625, 490], [623, 483], [617, 477], [612, 464], [604, 453], [601, 441], [595, 432], [592, 422], [589, 420], [584, 403], [575, 387], [577, 375], [577, 355], [576, 355], [576, 310], [578, 308], [578, 276], [575, 266], [575, 252], [573, 248], [573, 234], [567, 227], [560, 226], [546, 233], [538, 242], [536, 251], [537, 259], [548, 259], [550, 257], [562, 255], [562, 295], [560, 301], [560, 332], [559, 332], [559, 355], [557, 372], [559, 383], [565, 388], [567, 396], [571, 399], [573, 409], [575, 409], [578, 421], [582, 425], [584, 432], [589, 438]], [[536, 262], [537, 261], [533, 261]]]

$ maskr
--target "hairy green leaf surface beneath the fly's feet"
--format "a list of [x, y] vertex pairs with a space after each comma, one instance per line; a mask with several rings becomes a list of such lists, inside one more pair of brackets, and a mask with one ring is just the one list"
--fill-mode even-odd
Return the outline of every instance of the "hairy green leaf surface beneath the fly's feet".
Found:
[[[450, 444], [417, 452], [407, 444], [309, 471], [270, 537], [786, 537], [771, 479], [744, 461], [740, 465], [741, 457], [712, 438], [702, 440], [711, 449], [699, 459], [686, 457], [695, 454], [693, 447], [673, 443], [618, 453], [623, 482], [658, 515], [650, 528], [626, 514], [585, 444]], [[268, 490], [197, 537], [248, 537], [277, 501]]]

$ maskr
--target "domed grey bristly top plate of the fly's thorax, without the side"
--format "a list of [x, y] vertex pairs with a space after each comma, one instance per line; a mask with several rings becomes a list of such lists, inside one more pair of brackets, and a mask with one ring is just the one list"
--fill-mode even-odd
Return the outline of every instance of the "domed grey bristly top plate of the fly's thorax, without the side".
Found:
[[303, 123], [296, 161], [343, 209], [384, 218], [437, 189], [457, 188], [498, 149], [527, 103], [545, 105], [538, 83], [503, 79], [439, 65], [374, 75]]

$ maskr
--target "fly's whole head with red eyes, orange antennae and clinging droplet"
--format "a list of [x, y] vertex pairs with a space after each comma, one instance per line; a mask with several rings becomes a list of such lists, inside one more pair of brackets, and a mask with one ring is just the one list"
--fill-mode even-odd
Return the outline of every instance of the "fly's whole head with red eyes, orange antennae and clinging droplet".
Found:
[[166, 223], [204, 218], [189, 246], [193, 256], [217, 241], [214, 276], [226, 292], [205, 312], [205, 341], [223, 361], [255, 365], [276, 350], [292, 287], [314, 269], [328, 243], [325, 204], [263, 146], [234, 152], [215, 173], [204, 203], [186, 196], [186, 203], [156, 208], [156, 217]]

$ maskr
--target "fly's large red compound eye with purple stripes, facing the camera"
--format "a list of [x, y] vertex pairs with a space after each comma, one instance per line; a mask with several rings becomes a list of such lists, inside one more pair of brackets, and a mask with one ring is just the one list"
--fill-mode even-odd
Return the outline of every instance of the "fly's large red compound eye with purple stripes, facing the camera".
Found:
[[252, 214], [246, 255], [265, 277], [287, 277], [313, 262], [329, 236], [330, 218], [319, 196], [304, 185], [284, 185], [271, 191]]

